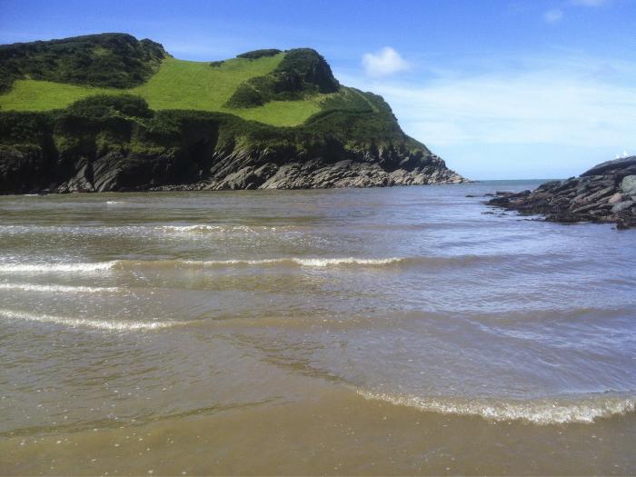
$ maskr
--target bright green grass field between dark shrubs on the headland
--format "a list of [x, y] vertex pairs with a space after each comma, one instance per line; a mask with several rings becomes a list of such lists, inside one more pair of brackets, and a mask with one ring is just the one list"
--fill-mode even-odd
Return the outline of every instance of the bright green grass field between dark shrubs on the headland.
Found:
[[229, 109], [223, 105], [238, 84], [272, 72], [282, 59], [283, 54], [257, 60], [234, 58], [212, 67], [208, 63], [166, 58], [148, 82], [128, 90], [18, 80], [8, 94], [0, 95], [0, 109], [46, 111], [64, 108], [93, 94], [129, 93], [144, 97], [155, 110], [220, 111], [276, 126], [302, 124], [321, 110], [322, 94], [300, 101], [273, 101], [250, 109]]

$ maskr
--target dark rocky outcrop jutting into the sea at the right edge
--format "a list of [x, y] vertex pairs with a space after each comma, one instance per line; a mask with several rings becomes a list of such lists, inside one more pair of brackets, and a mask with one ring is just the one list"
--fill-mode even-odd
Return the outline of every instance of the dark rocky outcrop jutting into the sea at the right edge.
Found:
[[579, 177], [548, 182], [532, 192], [498, 192], [488, 204], [542, 214], [552, 222], [636, 227], [636, 156], [595, 165]]

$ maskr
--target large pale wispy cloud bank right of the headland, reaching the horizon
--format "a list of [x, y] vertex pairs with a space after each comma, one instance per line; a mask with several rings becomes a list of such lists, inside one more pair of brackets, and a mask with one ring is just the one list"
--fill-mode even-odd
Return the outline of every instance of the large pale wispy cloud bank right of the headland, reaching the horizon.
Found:
[[425, 71], [336, 74], [382, 94], [405, 133], [473, 179], [568, 177], [636, 150], [636, 63], [555, 52]]

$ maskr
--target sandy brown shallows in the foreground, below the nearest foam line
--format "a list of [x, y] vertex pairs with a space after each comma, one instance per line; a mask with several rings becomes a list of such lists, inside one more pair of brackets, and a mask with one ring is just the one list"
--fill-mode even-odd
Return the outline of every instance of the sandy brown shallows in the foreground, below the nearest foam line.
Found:
[[[293, 402], [119, 422], [99, 431], [10, 437], [0, 441], [0, 461], [5, 475], [590, 475], [635, 470], [629, 458], [633, 412], [591, 424], [531, 425], [422, 412], [329, 384], [314, 392]], [[588, 459], [576, 458], [579, 454]]]

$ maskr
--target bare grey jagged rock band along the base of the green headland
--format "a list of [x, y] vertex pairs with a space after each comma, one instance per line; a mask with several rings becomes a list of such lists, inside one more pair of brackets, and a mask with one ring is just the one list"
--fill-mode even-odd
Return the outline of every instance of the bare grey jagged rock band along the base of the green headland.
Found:
[[[94, 160], [70, 162], [53, 182], [21, 184], [7, 193], [124, 192], [236, 189], [314, 189], [391, 185], [459, 184], [464, 178], [441, 158], [422, 152], [355, 151], [348, 157], [288, 157], [272, 151], [211, 152], [204, 160], [164, 152], [111, 152]], [[7, 174], [15, 175], [16, 164]], [[12, 163], [12, 164], [14, 164]], [[26, 164], [30, 165], [30, 164]], [[0, 173], [3, 170], [0, 168]]]

